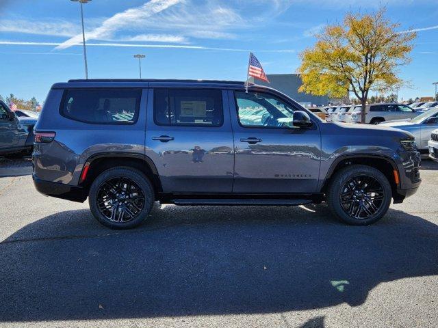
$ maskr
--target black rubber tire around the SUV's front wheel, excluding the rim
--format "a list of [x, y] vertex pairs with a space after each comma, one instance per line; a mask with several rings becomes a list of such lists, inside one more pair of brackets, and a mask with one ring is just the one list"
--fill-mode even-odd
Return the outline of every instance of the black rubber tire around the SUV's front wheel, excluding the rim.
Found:
[[[385, 198], [383, 200], [383, 204], [380, 210], [378, 210], [376, 215], [373, 215], [369, 219], [355, 219], [350, 217], [347, 213], [345, 213], [339, 202], [339, 193], [341, 193], [342, 187], [347, 182], [347, 180], [349, 180], [353, 176], [361, 174], [372, 176], [373, 178], [378, 180], [378, 182], [382, 184], [382, 187], [385, 191]], [[366, 165], [350, 165], [348, 167], [340, 169], [333, 176], [332, 182], [329, 185], [327, 203], [329, 204], [332, 213], [345, 223], [355, 226], [368, 226], [369, 224], [380, 220], [387, 213], [389, 205], [391, 204], [391, 197], [391, 184], [389, 184], [389, 181], [382, 172], [378, 171], [378, 169], [375, 169], [374, 167]]]

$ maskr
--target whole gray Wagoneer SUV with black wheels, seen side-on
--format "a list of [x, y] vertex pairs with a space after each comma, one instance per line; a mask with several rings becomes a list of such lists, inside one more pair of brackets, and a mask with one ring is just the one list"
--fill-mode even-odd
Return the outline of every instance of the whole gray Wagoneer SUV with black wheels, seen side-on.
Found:
[[292, 206], [322, 201], [368, 225], [420, 186], [413, 135], [326, 123], [268, 87], [231, 81], [73, 80], [35, 127], [34, 183], [132, 228], [155, 201]]

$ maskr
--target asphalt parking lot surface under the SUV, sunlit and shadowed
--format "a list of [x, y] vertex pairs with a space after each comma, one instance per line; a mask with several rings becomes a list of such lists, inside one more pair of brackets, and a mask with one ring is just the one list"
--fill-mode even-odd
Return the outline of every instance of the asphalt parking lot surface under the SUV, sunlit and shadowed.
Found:
[[324, 206], [155, 206], [129, 231], [0, 159], [1, 327], [436, 327], [438, 165], [368, 227]]

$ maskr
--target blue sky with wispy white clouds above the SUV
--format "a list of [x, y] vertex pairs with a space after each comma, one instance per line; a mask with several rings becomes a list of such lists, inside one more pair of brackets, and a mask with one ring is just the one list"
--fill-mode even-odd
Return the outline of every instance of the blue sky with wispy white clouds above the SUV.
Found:
[[[313, 34], [349, 10], [383, 3], [400, 30], [418, 29], [404, 99], [433, 96], [438, 81], [436, 0], [92, 0], [84, 5], [90, 78], [244, 80], [248, 51], [268, 74], [296, 72]], [[0, 0], [0, 94], [36, 96], [84, 77], [79, 3]]]

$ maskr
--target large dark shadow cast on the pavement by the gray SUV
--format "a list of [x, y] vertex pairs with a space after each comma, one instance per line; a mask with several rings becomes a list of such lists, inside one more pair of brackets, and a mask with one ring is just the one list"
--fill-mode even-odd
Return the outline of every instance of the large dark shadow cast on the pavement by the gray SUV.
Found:
[[70, 210], [6, 238], [0, 320], [355, 306], [383, 282], [438, 274], [438, 226], [399, 210], [365, 227], [338, 223], [324, 205], [156, 206], [151, 216], [120, 231]]

